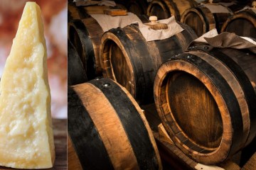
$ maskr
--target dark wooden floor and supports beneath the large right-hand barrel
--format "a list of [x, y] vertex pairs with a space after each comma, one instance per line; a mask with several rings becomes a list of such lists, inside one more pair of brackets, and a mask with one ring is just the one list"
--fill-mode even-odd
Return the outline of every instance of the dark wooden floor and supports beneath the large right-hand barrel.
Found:
[[[146, 120], [149, 122], [149, 126], [153, 131], [157, 147], [159, 149], [161, 161], [163, 163], [163, 169], [196, 169], [196, 166], [202, 166], [202, 164], [198, 164], [198, 162], [193, 161], [186, 154], [183, 154], [176, 145], [170, 142], [166, 142], [162, 140], [161, 135], [159, 134], [158, 126], [161, 124], [161, 120], [156, 111], [156, 106], [154, 103], [149, 105], [141, 106], [144, 110], [144, 114], [146, 116]], [[251, 145], [255, 145], [256, 140], [252, 142]], [[236, 170], [236, 169], [247, 169], [252, 170], [256, 169], [256, 152], [255, 149], [252, 149], [252, 146], [245, 147], [242, 152], [238, 152], [228, 162], [223, 162], [216, 166], [219, 166], [223, 169], [228, 170]], [[250, 152], [247, 152], [250, 150]], [[253, 151], [253, 153], [252, 153]], [[255, 152], [255, 153], [254, 153]], [[245, 159], [245, 160], [242, 160]], [[241, 168], [240, 168], [241, 167]], [[203, 168], [203, 167], [202, 167]], [[204, 167], [203, 169], [206, 169]]]

